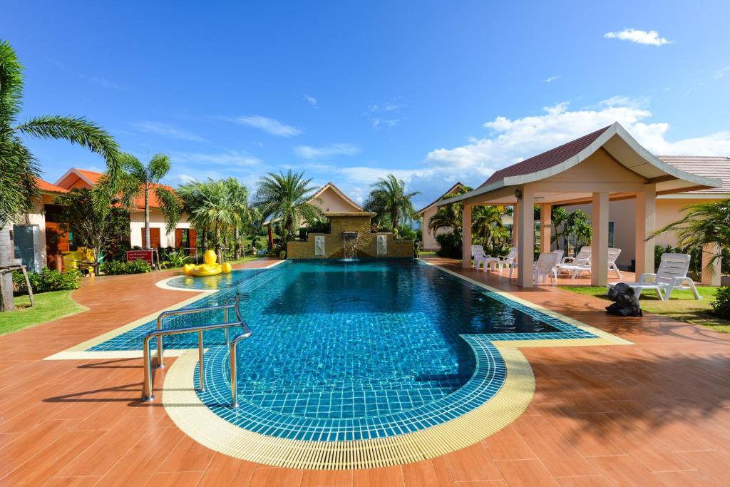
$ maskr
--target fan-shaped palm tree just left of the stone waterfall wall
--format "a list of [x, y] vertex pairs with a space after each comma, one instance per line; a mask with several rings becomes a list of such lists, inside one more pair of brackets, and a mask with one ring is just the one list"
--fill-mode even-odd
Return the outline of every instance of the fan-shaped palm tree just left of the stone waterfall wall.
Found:
[[269, 172], [258, 181], [254, 205], [261, 212], [261, 218], [281, 221], [282, 242], [287, 241], [299, 223], [322, 215], [321, 210], [310, 203], [316, 189], [311, 182], [311, 179], [304, 179], [304, 172], [292, 173], [291, 169], [286, 174]]

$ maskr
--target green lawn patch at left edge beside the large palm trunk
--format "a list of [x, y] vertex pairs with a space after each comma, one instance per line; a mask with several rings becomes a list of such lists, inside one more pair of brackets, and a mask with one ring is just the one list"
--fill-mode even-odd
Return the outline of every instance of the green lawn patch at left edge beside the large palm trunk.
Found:
[[88, 308], [71, 298], [73, 291], [52, 291], [36, 294], [35, 306], [31, 307], [28, 296], [15, 297], [15, 310], [0, 315], [0, 335], [36, 326], [68, 315], [75, 315]]

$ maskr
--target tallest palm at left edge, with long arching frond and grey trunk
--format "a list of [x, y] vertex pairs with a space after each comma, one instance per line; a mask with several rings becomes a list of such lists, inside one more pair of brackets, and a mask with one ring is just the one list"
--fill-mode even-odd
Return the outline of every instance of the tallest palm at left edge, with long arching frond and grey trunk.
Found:
[[[107, 161], [110, 185], [118, 183], [120, 164], [114, 139], [82, 117], [40, 115], [18, 123], [23, 100], [23, 66], [7, 41], [0, 41], [0, 266], [10, 264], [9, 223], [37, 202], [39, 167], [23, 136], [65, 139]], [[108, 202], [104, 202], [108, 204]], [[12, 276], [0, 277], [0, 311], [12, 310]]]

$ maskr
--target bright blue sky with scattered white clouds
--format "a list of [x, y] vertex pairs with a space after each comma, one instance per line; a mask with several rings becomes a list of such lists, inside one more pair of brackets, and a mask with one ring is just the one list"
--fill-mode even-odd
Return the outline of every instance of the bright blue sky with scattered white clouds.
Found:
[[[418, 206], [617, 120], [658, 155], [730, 156], [727, 1], [250, 3], [7, 2], [0, 39], [24, 115], [167, 153], [172, 185], [291, 168], [362, 199], [392, 171]], [[50, 181], [104, 168], [28, 145]]]

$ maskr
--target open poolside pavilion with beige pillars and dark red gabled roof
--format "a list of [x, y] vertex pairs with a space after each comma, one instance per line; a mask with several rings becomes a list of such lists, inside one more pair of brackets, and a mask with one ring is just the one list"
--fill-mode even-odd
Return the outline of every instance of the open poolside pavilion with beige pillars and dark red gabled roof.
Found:
[[[677, 169], [654, 156], [618, 122], [604, 129], [495, 172], [474, 191], [444, 199], [438, 206], [462, 202], [462, 229], [472, 228], [472, 207], [512, 205], [513, 242], [518, 246], [518, 285], [533, 284], [533, 205], [539, 204], [539, 248], [550, 252], [553, 205], [591, 203], [593, 253], [591, 285], [608, 283], [609, 202], [636, 199], [636, 272], [654, 272], [656, 196], [716, 188], [721, 180]], [[627, 217], [629, 215], [626, 215]], [[463, 233], [462, 266], [471, 266], [471, 231]]]

